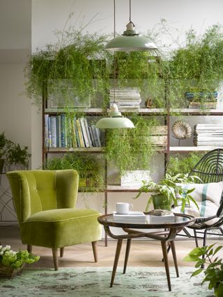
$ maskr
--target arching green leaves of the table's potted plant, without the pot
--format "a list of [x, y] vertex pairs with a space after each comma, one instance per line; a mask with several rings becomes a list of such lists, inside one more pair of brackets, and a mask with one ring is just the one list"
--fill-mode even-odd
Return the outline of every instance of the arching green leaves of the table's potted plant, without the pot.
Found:
[[[185, 189], [182, 186], [180, 186], [180, 184], [194, 182], [194, 180], [196, 179], [199, 179], [199, 177], [194, 175], [188, 176], [178, 174], [175, 176], [171, 176], [169, 174], [166, 174], [158, 183], [155, 183], [153, 181], [143, 181], [143, 186], [139, 188], [139, 193], [134, 199], [139, 198], [141, 193], [155, 193], [155, 195], [164, 195], [165, 197], [167, 197], [168, 200], [171, 201], [171, 204], [174, 204], [175, 206], [177, 206], [178, 201], [181, 201], [181, 211], [184, 211], [186, 204], [190, 205], [190, 201], [197, 206], [197, 209], [199, 209], [197, 202], [190, 195], [190, 193], [194, 191], [194, 188]], [[148, 211], [148, 207], [152, 201], [153, 195], [151, 195], [151, 197], [148, 198], [148, 202], [146, 204], [146, 211]]]

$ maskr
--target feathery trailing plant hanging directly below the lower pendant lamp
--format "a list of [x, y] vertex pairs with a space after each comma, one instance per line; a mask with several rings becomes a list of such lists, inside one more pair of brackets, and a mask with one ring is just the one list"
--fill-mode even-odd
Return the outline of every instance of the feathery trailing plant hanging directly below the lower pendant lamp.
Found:
[[114, 162], [121, 175], [126, 170], [148, 169], [156, 152], [151, 131], [157, 125], [157, 120], [135, 115], [132, 122], [134, 129], [110, 129], [106, 133], [107, 161]]

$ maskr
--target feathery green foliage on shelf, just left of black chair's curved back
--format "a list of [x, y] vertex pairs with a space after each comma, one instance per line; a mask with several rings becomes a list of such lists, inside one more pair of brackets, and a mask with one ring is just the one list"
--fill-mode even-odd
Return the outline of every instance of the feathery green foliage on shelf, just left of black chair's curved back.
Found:
[[169, 175], [177, 175], [178, 173], [188, 174], [197, 165], [203, 155], [204, 153], [191, 152], [186, 156], [182, 154], [169, 156], [167, 173]]

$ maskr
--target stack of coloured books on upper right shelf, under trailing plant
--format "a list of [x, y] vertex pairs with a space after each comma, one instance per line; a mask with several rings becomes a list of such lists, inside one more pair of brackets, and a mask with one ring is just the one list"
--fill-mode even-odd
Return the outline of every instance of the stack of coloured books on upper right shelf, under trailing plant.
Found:
[[217, 92], [215, 90], [192, 90], [185, 93], [189, 100], [189, 109], [216, 109]]

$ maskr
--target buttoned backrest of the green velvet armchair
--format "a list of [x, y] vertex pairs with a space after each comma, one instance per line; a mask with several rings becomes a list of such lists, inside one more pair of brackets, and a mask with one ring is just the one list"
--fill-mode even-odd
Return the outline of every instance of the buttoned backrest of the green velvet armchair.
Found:
[[16, 170], [6, 176], [20, 223], [38, 211], [75, 207], [79, 182], [76, 170]]

